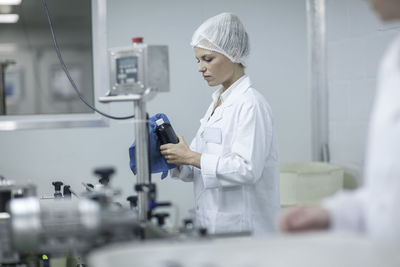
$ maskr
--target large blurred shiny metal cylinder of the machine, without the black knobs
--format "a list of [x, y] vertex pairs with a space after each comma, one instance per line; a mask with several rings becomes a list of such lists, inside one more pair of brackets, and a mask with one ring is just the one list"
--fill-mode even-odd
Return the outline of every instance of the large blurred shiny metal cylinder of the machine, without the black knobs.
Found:
[[82, 255], [104, 244], [140, 239], [137, 214], [90, 199], [10, 202], [13, 248], [18, 252]]

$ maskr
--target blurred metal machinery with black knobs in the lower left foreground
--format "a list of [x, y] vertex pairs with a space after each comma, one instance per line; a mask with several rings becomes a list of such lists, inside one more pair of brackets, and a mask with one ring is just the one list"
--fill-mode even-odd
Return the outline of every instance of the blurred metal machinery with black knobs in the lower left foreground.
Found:
[[[99, 183], [77, 197], [69, 194], [68, 185], [61, 193], [61, 181], [53, 182], [54, 197], [38, 198], [33, 186], [16, 186], [1, 179], [0, 266], [39, 266], [38, 255], [44, 253], [77, 257], [107, 244], [173, 238], [161, 228], [168, 214], [149, 212], [158, 220], [156, 225], [141, 222], [137, 209], [114, 205], [118, 190], [110, 185], [112, 173], [112, 168], [95, 170]], [[155, 201], [154, 185], [150, 186], [149, 196], [149, 211], [169, 205]]]

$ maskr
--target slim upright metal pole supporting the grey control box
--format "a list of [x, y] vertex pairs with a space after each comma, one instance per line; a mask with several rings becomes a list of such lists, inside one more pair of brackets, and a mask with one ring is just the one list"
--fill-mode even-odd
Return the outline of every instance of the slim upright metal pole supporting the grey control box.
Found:
[[[135, 110], [135, 138], [136, 138], [136, 177], [139, 185], [149, 184], [149, 132], [146, 120], [146, 103], [142, 100], [134, 101]], [[139, 220], [147, 221], [148, 194], [143, 187], [138, 192]]]

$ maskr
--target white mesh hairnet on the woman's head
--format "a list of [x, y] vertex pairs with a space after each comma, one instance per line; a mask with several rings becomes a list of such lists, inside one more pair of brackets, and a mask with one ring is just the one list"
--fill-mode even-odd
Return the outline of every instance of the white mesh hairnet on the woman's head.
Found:
[[194, 32], [190, 45], [221, 53], [244, 66], [250, 50], [243, 24], [231, 13], [221, 13], [206, 20]]

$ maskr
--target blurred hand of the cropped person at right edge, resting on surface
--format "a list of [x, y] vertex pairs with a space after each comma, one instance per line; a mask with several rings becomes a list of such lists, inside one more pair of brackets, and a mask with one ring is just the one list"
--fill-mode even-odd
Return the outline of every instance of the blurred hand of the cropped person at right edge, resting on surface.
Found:
[[329, 212], [319, 206], [294, 207], [284, 211], [279, 219], [279, 230], [284, 233], [327, 230]]

